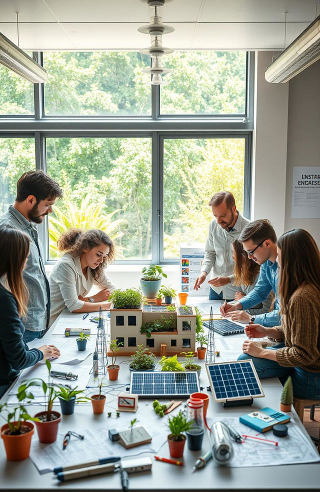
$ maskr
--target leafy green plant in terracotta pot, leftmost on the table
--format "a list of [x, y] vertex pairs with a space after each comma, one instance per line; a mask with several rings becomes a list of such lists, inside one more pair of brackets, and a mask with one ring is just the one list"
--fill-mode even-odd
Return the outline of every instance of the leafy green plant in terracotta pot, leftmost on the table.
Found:
[[[16, 397], [18, 405], [13, 407], [7, 403], [0, 404], [1, 417], [6, 421], [2, 425], [0, 432], [3, 439], [6, 458], [9, 461], [21, 461], [29, 456], [31, 437], [34, 432], [33, 423], [38, 421], [38, 418], [31, 417], [25, 407], [26, 403], [30, 403], [33, 399], [33, 394], [28, 390], [29, 386], [36, 383], [29, 381], [22, 383], [17, 390]], [[23, 401], [27, 400], [26, 403]], [[6, 411], [6, 416], [2, 414]]]

